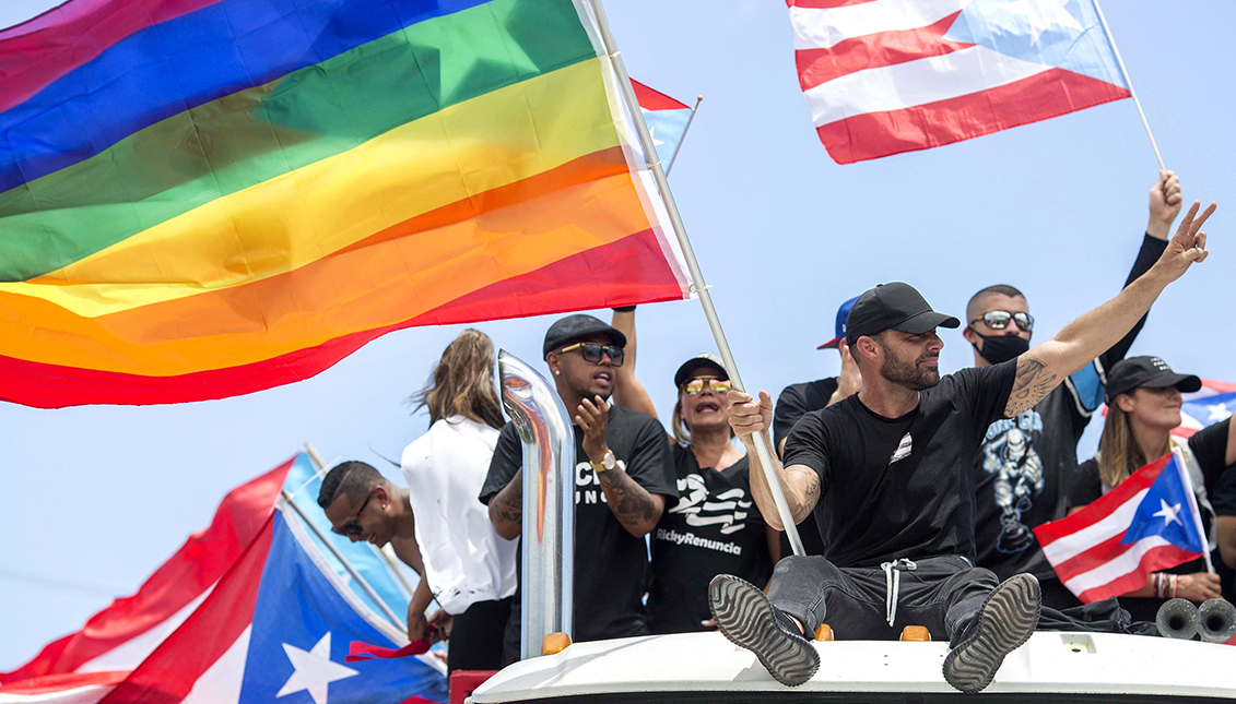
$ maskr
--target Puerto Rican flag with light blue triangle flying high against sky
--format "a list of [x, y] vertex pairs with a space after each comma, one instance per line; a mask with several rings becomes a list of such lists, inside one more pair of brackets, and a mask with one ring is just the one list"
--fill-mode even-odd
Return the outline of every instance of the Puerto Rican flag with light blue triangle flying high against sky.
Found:
[[1093, 0], [787, 0], [838, 163], [927, 149], [1131, 95]]

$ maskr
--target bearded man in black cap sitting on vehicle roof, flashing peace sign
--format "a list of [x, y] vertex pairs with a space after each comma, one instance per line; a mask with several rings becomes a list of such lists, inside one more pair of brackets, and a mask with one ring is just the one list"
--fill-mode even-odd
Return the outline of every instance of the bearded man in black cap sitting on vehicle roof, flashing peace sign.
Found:
[[[944, 345], [936, 327], [960, 322], [933, 311], [907, 284], [859, 296], [845, 337], [863, 389], [807, 414], [786, 442], [785, 466], [774, 467], [791, 519], [816, 511], [826, 555], [782, 559], [768, 597], [737, 577], [714, 578], [708, 600], [718, 629], [779, 682], [797, 685], [819, 667], [805, 634], [826, 618], [850, 639], [891, 639], [901, 625], [922, 625], [952, 641], [944, 679], [962, 692], [985, 688], [1033, 632], [1042, 595], [1032, 574], [997, 585], [991, 572], [971, 566], [974, 452], [991, 422], [1032, 408], [1115, 345], [1167, 284], [1206, 257], [1199, 231], [1213, 211], [1195, 217], [1194, 204], [1146, 275], [1002, 364], [941, 378]], [[733, 404], [730, 424], [750, 451], [756, 504], [780, 527], [751, 437], [771, 425], [771, 399], [735, 394]]]

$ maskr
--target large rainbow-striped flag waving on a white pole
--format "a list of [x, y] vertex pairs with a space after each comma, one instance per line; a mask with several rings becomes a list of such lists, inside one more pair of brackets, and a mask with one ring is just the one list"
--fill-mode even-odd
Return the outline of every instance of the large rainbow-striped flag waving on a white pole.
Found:
[[218, 399], [690, 295], [590, 0], [70, 0], [0, 31], [0, 399]]

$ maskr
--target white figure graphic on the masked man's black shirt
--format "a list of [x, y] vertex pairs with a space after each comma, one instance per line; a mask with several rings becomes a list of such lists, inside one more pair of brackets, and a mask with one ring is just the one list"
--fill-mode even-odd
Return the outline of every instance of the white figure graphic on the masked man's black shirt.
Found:
[[993, 492], [1001, 511], [997, 552], [1016, 553], [1035, 545], [1035, 534], [1021, 516], [1043, 490], [1043, 461], [1031, 435], [1041, 430], [1042, 416], [1030, 409], [1015, 419], [991, 424], [983, 440], [983, 469], [996, 476]]

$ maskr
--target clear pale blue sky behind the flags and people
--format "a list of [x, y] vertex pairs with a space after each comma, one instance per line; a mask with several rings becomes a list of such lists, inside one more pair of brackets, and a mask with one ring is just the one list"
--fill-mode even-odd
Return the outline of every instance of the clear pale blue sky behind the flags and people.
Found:
[[[52, 5], [0, 2], [0, 26]], [[749, 387], [776, 394], [834, 374], [837, 352], [816, 345], [832, 337], [842, 300], [880, 282], [911, 282], [954, 315], [979, 288], [1014, 284], [1038, 320], [1036, 340], [1124, 283], [1158, 169], [1132, 101], [843, 167], [812, 128], [784, 2], [611, 0], [607, 9], [635, 78], [688, 104], [705, 96], [671, 183]], [[1236, 5], [1122, 0], [1106, 11], [1185, 199], [1220, 203], [1206, 227], [1210, 259], [1168, 289], [1133, 353], [1236, 380], [1227, 225]], [[696, 301], [644, 306], [638, 320], [639, 374], [667, 414], [674, 369], [714, 345]], [[549, 322], [477, 327], [536, 359]], [[398, 457], [425, 430], [404, 399], [457, 330], [388, 335], [314, 379], [221, 401], [0, 404], [0, 671], [135, 590], [208, 524], [227, 489], [303, 441], [391, 473], [373, 451]], [[943, 338], [943, 369], [971, 362], [959, 331]]]

